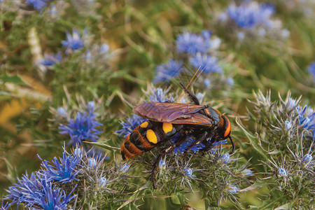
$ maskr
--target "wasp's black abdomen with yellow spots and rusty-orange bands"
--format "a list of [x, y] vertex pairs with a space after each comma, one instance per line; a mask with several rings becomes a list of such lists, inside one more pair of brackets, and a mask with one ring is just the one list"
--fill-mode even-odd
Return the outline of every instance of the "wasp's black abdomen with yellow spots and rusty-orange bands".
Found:
[[173, 137], [176, 132], [177, 130], [172, 123], [160, 123], [150, 120], [142, 123], [126, 137], [124, 144], [121, 146], [120, 153], [123, 160], [137, 157], [144, 151], [150, 151], [160, 142]]

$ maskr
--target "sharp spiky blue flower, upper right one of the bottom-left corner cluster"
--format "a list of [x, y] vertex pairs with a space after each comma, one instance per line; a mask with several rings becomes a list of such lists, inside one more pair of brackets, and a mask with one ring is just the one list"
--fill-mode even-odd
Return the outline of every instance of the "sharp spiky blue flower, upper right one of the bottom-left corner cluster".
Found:
[[[41, 159], [38, 155], [38, 158]], [[41, 159], [42, 160], [42, 159]], [[43, 169], [40, 173], [46, 176], [47, 181], [59, 181], [60, 183], [67, 183], [76, 179], [76, 175], [80, 172], [81, 165], [78, 162], [81, 160], [81, 156], [67, 155], [66, 151], [62, 153], [62, 158], [58, 159], [55, 157], [52, 160], [53, 165], [47, 160], [42, 160], [41, 166]]]

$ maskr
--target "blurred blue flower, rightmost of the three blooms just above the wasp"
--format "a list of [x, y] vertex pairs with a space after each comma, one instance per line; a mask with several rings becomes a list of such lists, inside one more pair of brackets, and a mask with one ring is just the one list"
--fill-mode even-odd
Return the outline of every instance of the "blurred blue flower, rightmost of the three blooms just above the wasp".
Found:
[[216, 57], [211, 57], [211, 55], [197, 53], [195, 56], [190, 58], [190, 64], [192, 64], [196, 69], [199, 69], [204, 73], [216, 72], [223, 73], [221, 66], [216, 64], [218, 59]]

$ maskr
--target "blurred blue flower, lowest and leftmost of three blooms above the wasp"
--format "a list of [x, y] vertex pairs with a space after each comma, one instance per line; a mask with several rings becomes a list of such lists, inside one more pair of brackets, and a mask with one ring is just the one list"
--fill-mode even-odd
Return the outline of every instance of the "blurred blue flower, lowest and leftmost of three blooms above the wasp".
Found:
[[153, 83], [158, 82], [169, 82], [172, 78], [179, 76], [179, 73], [183, 71], [183, 62], [176, 62], [172, 59], [169, 59], [167, 64], [161, 64], [156, 67], [155, 72], [156, 76], [153, 80]]

